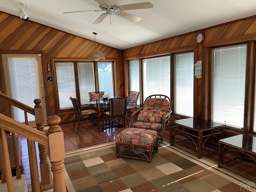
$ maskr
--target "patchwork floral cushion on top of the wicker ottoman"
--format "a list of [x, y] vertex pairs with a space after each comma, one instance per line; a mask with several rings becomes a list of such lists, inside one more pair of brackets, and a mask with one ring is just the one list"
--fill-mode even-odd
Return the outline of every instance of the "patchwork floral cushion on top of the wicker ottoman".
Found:
[[126, 128], [116, 135], [116, 142], [150, 147], [157, 139], [154, 130]]

